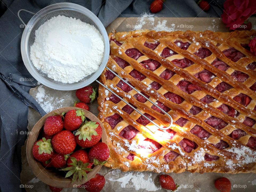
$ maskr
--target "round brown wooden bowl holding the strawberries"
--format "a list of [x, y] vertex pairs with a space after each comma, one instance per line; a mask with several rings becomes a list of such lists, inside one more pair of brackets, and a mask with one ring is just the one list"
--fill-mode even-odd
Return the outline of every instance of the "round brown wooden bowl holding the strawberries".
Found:
[[[27, 146], [26, 146], [27, 162], [29, 163], [29, 166], [31, 167], [35, 176], [38, 177], [42, 182], [44, 182], [50, 186], [60, 187], [60, 188], [70, 188], [70, 187], [74, 187], [77, 185], [81, 185], [86, 182], [85, 178], [82, 178], [81, 181], [79, 181], [77, 179], [77, 181], [72, 183], [72, 179], [70, 177], [65, 178], [64, 171], [63, 171], [63, 175], [61, 175], [60, 174], [61, 172], [59, 172], [59, 171], [45, 168], [44, 166], [42, 166], [42, 164], [39, 161], [34, 159], [33, 154], [32, 154], [32, 147], [33, 147], [34, 143], [38, 140], [37, 138], [38, 138], [39, 133], [43, 129], [45, 119], [49, 116], [54, 115], [55, 113], [57, 113], [57, 114], [61, 114], [63, 112], [66, 113], [67, 111], [72, 110], [72, 109], [81, 109], [81, 108], [63, 107], [63, 108], [59, 108], [54, 111], [51, 111], [50, 113], [47, 113], [35, 124], [35, 126], [31, 130], [31, 134], [29, 134], [29, 137], [27, 139]], [[81, 110], [83, 110], [83, 109], [81, 109]], [[99, 121], [99, 119], [94, 114], [90, 113], [89, 111], [83, 110], [83, 112], [85, 113], [85, 117], [87, 117], [91, 121], [96, 121], [101, 125], [101, 127], [102, 127], [101, 139], [102, 139], [102, 142], [107, 144], [107, 134], [106, 134], [105, 129], [103, 128], [103, 125]], [[95, 166], [93, 168], [93, 170], [87, 174], [87, 181], [89, 179], [93, 178], [98, 173], [98, 171], [101, 169], [101, 167], [102, 167], [101, 165]]]

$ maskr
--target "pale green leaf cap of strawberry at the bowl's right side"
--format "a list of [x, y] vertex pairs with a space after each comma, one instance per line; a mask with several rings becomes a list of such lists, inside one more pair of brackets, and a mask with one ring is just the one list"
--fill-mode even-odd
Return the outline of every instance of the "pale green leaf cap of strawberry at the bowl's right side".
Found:
[[96, 131], [97, 127], [99, 126], [96, 124], [95, 121], [89, 121], [80, 126], [75, 136], [79, 135], [78, 139], [85, 141], [88, 139], [88, 141], [91, 141], [91, 136], [95, 135], [97, 136], [98, 133]]

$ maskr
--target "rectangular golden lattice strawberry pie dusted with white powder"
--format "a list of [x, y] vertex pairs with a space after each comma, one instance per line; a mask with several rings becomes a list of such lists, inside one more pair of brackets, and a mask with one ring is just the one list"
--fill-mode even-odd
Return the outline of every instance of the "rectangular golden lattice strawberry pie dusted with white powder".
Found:
[[[107, 66], [173, 118], [157, 130], [99, 86], [105, 164], [123, 171], [256, 172], [255, 30], [110, 33]], [[105, 69], [100, 81], [158, 125], [170, 120]], [[119, 82], [121, 81], [121, 82]]]

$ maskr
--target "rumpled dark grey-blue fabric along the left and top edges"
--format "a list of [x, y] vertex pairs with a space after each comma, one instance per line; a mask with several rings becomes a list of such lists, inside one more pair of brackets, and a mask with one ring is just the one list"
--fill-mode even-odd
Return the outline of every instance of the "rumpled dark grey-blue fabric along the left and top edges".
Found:
[[[28, 106], [41, 115], [45, 111], [38, 105], [29, 90], [37, 85], [37, 81], [29, 74], [21, 58], [20, 42], [23, 28], [17, 17], [19, 9], [37, 12], [43, 7], [64, 2], [61, 0], [1, 0], [0, 3], [0, 188], [4, 192], [18, 192], [20, 188], [21, 146], [24, 145], [26, 135], [20, 131], [27, 129]], [[115, 18], [138, 17], [149, 11], [152, 0], [92, 0], [70, 1], [85, 6], [99, 17], [104, 26], [109, 25]], [[163, 10], [157, 17], [219, 17], [222, 13], [222, 0], [211, 2], [211, 9], [205, 13], [193, 0], [166, 1]], [[5, 11], [5, 12], [4, 12]], [[30, 14], [21, 13], [25, 22], [31, 18]]]

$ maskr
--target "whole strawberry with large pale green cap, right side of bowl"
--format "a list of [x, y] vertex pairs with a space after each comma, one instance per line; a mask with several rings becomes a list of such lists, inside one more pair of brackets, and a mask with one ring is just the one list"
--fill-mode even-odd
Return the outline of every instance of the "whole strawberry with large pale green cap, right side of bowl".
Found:
[[99, 142], [102, 128], [98, 122], [89, 121], [83, 123], [75, 134], [75, 140], [81, 147], [91, 147]]

